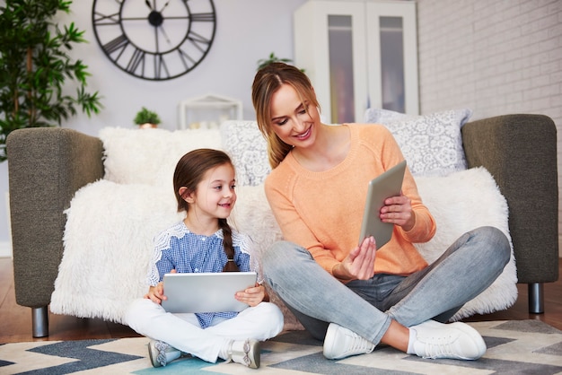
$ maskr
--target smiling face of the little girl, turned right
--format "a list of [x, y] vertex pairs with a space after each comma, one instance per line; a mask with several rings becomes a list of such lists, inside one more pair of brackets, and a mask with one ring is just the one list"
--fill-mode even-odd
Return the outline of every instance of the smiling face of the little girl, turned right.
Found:
[[209, 218], [226, 219], [233, 211], [236, 203], [235, 176], [233, 166], [223, 164], [212, 170], [207, 170], [199, 182], [194, 194], [191, 208], [198, 216], [206, 215]]

